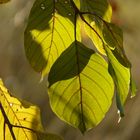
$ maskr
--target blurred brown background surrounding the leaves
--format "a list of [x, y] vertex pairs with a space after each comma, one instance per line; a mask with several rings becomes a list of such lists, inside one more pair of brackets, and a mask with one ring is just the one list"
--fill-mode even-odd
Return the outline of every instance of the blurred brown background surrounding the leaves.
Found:
[[65, 140], [140, 140], [140, 0], [110, 0], [113, 22], [124, 31], [125, 51], [132, 62], [132, 73], [138, 92], [128, 98], [125, 117], [118, 124], [115, 103], [105, 119], [83, 136], [52, 113], [49, 105], [46, 79], [30, 67], [24, 53], [24, 29], [34, 0], [11, 0], [0, 5], [0, 77], [10, 91], [21, 99], [37, 104], [47, 132], [60, 134]]

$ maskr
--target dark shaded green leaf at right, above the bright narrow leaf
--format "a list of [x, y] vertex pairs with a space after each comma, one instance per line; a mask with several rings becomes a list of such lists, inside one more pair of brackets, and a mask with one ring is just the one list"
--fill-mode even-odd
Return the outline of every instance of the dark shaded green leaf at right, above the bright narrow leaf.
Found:
[[104, 22], [103, 37], [107, 46], [115, 48], [113, 52], [117, 60], [125, 67], [131, 67], [123, 49], [123, 32], [112, 23]]

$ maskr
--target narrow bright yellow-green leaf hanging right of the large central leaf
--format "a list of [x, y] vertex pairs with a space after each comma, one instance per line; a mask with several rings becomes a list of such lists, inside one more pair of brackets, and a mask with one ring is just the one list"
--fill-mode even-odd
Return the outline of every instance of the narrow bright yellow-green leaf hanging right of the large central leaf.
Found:
[[114, 55], [115, 50], [110, 50], [108, 46], [105, 46], [105, 50], [109, 59], [110, 74], [114, 79], [120, 103], [124, 105], [129, 92], [130, 68], [125, 67], [118, 61]]

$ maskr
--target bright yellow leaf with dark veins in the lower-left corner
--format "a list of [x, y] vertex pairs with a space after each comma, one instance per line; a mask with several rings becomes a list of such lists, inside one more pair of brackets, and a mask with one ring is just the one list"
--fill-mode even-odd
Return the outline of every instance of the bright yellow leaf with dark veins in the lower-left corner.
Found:
[[0, 80], [0, 139], [48, 140], [48, 137], [60, 140], [59, 136], [44, 132], [39, 108], [13, 97]]

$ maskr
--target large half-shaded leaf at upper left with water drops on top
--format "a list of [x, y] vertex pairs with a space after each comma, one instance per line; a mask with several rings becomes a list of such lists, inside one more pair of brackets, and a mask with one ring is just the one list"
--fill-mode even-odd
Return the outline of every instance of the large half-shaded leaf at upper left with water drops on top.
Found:
[[[69, 0], [35, 1], [25, 30], [25, 51], [31, 66], [43, 76], [74, 41], [74, 22]], [[76, 29], [80, 40], [80, 27]]]

